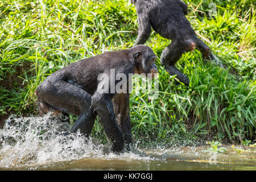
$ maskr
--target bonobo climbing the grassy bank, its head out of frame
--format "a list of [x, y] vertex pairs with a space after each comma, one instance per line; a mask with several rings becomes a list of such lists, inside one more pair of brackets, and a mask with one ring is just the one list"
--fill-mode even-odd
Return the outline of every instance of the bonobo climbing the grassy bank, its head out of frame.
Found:
[[135, 45], [144, 44], [150, 36], [151, 27], [163, 38], [171, 39], [161, 55], [161, 63], [170, 75], [176, 77], [185, 85], [189, 78], [175, 67], [175, 63], [184, 52], [198, 48], [204, 59], [211, 59], [210, 48], [197, 38], [195, 31], [185, 15], [188, 7], [180, 0], [131, 0], [135, 4], [138, 17], [138, 37]]

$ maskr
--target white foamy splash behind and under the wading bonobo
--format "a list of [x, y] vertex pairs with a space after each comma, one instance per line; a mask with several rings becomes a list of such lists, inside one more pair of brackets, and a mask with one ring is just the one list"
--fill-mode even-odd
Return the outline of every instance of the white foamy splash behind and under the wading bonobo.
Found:
[[142, 152], [116, 155], [109, 145], [69, 133], [71, 126], [51, 113], [44, 117], [11, 115], [0, 130], [0, 168], [42, 166], [82, 158], [150, 159]]

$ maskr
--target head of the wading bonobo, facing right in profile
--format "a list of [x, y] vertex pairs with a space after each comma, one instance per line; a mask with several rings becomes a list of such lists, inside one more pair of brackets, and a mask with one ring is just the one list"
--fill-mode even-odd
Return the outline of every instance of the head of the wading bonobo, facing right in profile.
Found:
[[148, 46], [138, 45], [131, 48], [131, 53], [135, 63], [134, 73], [144, 73], [146, 75], [152, 73], [152, 78], [154, 78], [154, 74], [158, 73], [155, 65], [156, 55], [154, 51]]

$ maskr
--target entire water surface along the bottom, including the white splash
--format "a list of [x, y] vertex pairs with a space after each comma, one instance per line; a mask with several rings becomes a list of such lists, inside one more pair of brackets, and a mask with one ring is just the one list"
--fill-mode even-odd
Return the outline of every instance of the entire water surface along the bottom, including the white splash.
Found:
[[[122, 154], [109, 145], [69, 134], [71, 126], [50, 114], [12, 115], [0, 130], [0, 170], [256, 170], [256, 147], [214, 154], [209, 146], [133, 148]], [[239, 148], [239, 146], [236, 146]]]

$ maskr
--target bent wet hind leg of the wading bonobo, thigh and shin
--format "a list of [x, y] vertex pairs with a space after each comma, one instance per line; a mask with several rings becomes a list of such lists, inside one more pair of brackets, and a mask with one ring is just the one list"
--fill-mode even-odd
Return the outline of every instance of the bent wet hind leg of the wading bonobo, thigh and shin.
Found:
[[91, 107], [91, 95], [85, 90], [63, 80], [45, 80], [36, 89], [36, 96], [44, 106], [79, 115], [71, 132], [80, 129], [81, 133], [90, 134], [96, 114]]

